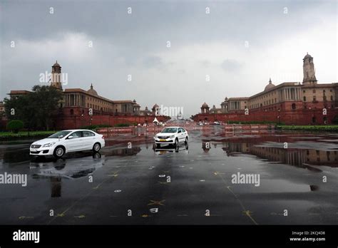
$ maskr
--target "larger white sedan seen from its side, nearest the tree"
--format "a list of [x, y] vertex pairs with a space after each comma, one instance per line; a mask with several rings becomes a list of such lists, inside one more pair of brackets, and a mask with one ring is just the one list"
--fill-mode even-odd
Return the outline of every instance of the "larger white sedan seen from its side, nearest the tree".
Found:
[[91, 130], [63, 130], [31, 144], [30, 155], [62, 157], [83, 150], [98, 152], [105, 145], [103, 135]]

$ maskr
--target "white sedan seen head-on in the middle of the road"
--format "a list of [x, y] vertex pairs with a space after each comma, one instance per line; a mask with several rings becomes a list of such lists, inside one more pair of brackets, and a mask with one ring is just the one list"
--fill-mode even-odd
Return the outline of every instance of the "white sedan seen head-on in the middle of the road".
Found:
[[188, 143], [189, 135], [188, 131], [180, 127], [168, 127], [163, 128], [163, 130], [155, 135], [154, 137], [155, 144], [157, 147], [160, 147], [160, 144], [172, 144], [178, 146], [178, 143], [184, 142]]

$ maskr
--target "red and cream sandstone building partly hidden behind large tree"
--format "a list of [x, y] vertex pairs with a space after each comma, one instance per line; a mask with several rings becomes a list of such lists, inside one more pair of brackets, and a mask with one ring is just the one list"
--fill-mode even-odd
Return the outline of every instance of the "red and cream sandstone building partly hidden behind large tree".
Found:
[[[63, 92], [63, 100], [59, 103], [53, 123], [55, 129], [80, 128], [86, 125], [115, 125], [118, 123], [152, 123], [156, 104], [153, 111], [140, 110], [136, 100], [111, 100], [98, 95], [93, 84], [88, 91], [81, 88], [62, 88], [61, 66], [56, 63], [52, 66], [51, 86]], [[29, 91], [11, 91], [11, 98], [28, 94]], [[168, 117], [157, 116], [159, 121], [168, 120]]]

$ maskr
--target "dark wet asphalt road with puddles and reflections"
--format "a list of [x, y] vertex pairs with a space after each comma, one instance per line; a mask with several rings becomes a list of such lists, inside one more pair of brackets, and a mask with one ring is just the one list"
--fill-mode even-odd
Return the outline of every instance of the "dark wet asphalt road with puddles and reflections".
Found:
[[[57, 161], [30, 160], [30, 143], [0, 144], [0, 173], [28, 175], [0, 185], [1, 224], [338, 224], [337, 134], [215, 127], [179, 150], [120, 144]], [[232, 183], [237, 172], [260, 185]]]

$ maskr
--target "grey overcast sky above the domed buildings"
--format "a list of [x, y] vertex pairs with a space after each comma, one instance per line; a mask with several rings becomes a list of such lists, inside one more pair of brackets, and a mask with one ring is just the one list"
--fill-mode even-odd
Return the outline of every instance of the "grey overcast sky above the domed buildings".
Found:
[[0, 11], [1, 99], [30, 90], [56, 60], [63, 88], [93, 83], [103, 97], [185, 117], [254, 95], [270, 77], [302, 81], [307, 52], [319, 83], [338, 82], [337, 1], [0, 0]]

